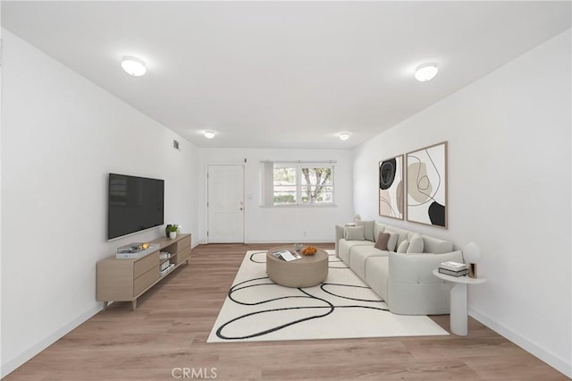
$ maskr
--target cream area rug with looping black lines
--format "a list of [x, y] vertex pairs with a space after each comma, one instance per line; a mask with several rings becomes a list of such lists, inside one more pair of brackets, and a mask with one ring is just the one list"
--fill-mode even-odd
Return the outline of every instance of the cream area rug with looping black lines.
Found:
[[392, 314], [333, 250], [327, 251], [326, 281], [307, 288], [273, 284], [265, 251], [247, 251], [206, 342], [448, 334], [426, 316]]

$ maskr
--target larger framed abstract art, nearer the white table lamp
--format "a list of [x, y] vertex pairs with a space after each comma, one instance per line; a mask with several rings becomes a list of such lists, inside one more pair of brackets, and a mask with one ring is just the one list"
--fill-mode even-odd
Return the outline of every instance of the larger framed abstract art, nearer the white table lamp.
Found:
[[447, 141], [409, 152], [408, 221], [447, 228]]

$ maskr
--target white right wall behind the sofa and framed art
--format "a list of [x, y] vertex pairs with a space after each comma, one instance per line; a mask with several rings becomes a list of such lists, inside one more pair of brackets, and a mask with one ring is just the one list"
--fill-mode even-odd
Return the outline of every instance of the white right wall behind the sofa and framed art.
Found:
[[471, 315], [568, 377], [570, 72], [568, 30], [354, 151], [356, 211], [383, 220], [374, 165], [449, 141], [449, 229], [385, 222], [477, 242], [487, 282], [470, 288]]

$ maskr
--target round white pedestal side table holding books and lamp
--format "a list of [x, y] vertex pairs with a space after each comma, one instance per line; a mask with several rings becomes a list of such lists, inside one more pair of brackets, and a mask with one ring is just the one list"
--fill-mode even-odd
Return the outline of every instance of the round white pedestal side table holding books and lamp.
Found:
[[450, 332], [459, 336], [467, 336], [467, 285], [484, 284], [486, 279], [445, 275], [437, 269], [433, 270], [433, 275], [455, 284], [450, 290]]

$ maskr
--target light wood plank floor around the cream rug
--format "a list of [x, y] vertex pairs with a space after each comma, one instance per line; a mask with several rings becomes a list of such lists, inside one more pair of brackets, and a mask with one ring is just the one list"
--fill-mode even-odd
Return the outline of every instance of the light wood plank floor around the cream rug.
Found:
[[[568, 379], [472, 318], [467, 337], [206, 343], [244, 253], [267, 248], [199, 245], [136, 311], [112, 304], [5, 379]], [[432, 318], [449, 330], [449, 316]]]

